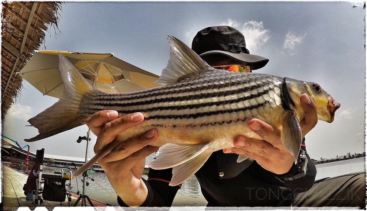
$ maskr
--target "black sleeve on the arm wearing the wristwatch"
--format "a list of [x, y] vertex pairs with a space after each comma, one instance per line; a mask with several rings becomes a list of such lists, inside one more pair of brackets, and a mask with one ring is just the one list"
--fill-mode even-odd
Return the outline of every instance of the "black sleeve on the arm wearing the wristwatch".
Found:
[[[302, 140], [301, 149], [303, 149], [305, 152], [307, 152], [306, 151], [306, 145], [305, 145], [305, 138]], [[301, 178], [298, 178], [298, 179], [293, 179], [293, 180], [284, 182], [284, 187], [289, 188], [293, 193], [306, 192], [315, 183], [316, 166], [313, 163], [313, 161], [310, 159], [308, 154], [307, 154], [307, 159], [308, 159], [308, 169], [306, 171], [306, 175], [304, 177], [301, 177]], [[298, 165], [293, 163], [291, 169], [287, 173], [281, 174], [281, 175], [276, 175], [276, 177], [277, 178], [286, 178], [286, 177], [294, 176], [296, 174], [298, 174]]]

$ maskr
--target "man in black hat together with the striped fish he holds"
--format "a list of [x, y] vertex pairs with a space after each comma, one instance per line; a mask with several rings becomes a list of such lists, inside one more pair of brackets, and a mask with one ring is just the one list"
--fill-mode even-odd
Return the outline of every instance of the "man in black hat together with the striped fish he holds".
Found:
[[[121, 206], [171, 206], [194, 174], [211, 207], [364, 206], [366, 174], [315, 182], [304, 136], [340, 107], [319, 84], [253, 73], [268, 59], [251, 55], [229, 26], [199, 31], [192, 49], [168, 42], [156, 81], [166, 86], [120, 94], [92, 87], [59, 54], [64, 92], [28, 120], [39, 135], [25, 141], [87, 124], [96, 155], [73, 175], [98, 161]], [[145, 180], [145, 157], [155, 151]]]

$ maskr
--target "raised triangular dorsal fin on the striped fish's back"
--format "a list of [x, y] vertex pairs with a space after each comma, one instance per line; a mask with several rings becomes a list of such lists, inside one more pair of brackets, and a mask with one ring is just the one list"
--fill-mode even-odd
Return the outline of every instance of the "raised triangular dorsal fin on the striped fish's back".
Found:
[[214, 69], [181, 40], [168, 36], [168, 42], [170, 43], [170, 60], [155, 83], [174, 84], [189, 78], [197, 71]]

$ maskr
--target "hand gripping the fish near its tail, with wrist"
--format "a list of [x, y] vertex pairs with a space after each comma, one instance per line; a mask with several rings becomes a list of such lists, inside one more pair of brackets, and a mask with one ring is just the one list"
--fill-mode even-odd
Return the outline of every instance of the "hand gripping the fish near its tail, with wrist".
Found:
[[[87, 119], [87, 125], [98, 137], [94, 153], [97, 154], [104, 146], [114, 141], [117, 135], [141, 124], [143, 120], [142, 113], [121, 117], [114, 110], [102, 110], [92, 114]], [[112, 188], [129, 206], [139, 206], [146, 199], [148, 189], [141, 176], [145, 166], [145, 157], [158, 150], [158, 147], [148, 145], [157, 136], [157, 130], [152, 129], [128, 138], [118, 148], [98, 161]]]

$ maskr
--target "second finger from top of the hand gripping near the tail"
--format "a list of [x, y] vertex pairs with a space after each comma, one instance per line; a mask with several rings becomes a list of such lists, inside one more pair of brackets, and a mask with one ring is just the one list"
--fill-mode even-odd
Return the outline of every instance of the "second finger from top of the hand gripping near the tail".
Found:
[[128, 128], [141, 124], [144, 120], [142, 113], [132, 113], [126, 116], [120, 117], [113, 121], [106, 123], [99, 133], [97, 142], [94, 146], [94, 152], [98, 153], [103, 146], [107, 145], [113, 139], [116, 138], [121, 132], [126, 131]]

